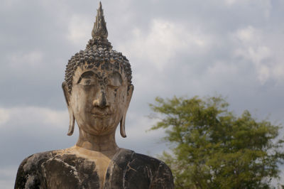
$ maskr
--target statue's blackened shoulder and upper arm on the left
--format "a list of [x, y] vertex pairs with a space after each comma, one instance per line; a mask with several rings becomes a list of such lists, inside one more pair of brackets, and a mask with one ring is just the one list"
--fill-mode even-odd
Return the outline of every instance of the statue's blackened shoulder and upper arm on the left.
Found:
[[18, 167], [15, 188], [39, 188], [43, 183], [41, 165], [56, 156], [57, 152], [45, 151], [34, 153], [25, 158]]

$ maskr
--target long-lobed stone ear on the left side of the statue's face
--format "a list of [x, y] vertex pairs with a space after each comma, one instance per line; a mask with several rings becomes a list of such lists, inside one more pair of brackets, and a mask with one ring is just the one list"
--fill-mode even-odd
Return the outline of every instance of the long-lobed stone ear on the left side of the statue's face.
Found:
[[74, 131], [75, 117], [72, 111], [72, 107], [70, 106], [70, 93], [68, 92], [68, 86], [66, 82], [62, 82], [62, 90], [64, 93], [64, 97], [65, 97], [65, 101], [66, 101], [68, 113], [69, 113], [69, 129], [68, 129], [67, 135], [71, 136]]

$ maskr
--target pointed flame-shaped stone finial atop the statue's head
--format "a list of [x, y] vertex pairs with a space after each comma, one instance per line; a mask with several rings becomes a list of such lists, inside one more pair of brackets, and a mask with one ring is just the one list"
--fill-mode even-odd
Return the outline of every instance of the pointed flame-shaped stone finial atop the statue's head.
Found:
[[107, 38], [107, 23], [104, 21], [104, 11], [102, 10], [101, 1], [99, 1], [99, 9], [97, 9], [96, 22], [94, 23], [92, 30], [92, 38]]

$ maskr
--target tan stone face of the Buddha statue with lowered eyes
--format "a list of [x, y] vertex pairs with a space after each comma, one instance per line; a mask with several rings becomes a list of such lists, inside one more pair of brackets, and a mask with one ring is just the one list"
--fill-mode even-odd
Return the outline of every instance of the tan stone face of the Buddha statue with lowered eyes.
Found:
[[[102, 69], [103, 68], [103, 69]], [[69, 107], [80, 129], [93, 135], [110, 134], [126, 113], [132, 95], [124, 72], [79, 67], [73, 77]]]

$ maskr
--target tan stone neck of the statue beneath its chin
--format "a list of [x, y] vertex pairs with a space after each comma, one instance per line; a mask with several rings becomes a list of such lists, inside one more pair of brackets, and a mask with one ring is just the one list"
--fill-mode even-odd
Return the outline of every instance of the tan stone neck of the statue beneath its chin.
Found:
[[91, 151], [117, 151], [119, 146], [116, 145], [115, 131], [111, 134], [97, 136], [89, 134], [79, 129], [79, 139], [76, 146], [86, 148]]

